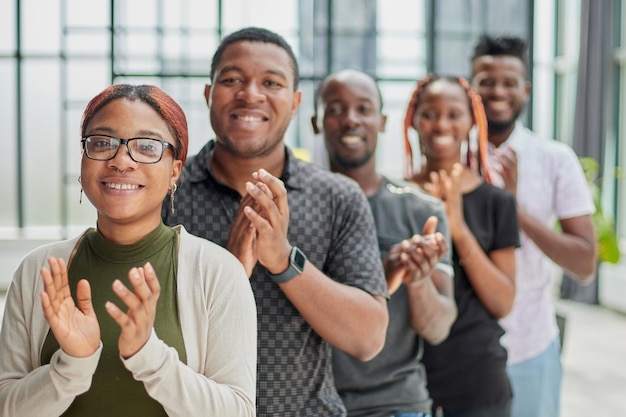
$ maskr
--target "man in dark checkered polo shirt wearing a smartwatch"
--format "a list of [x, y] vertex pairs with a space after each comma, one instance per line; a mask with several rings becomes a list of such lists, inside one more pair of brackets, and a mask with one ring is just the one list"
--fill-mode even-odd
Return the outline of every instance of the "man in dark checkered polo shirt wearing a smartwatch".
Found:
[[371, 359], [388, 322], [367, 200], [352, 180], [294, 158], [285, 146], [301, 92], [282, 37], [260, 28], [228, 35], [210, 78], [215, 140], [189, 158], [176, 210], [165, 202], [164, 220], [225, 246], [250, 275], [257, 415], [345, 416], [331, 345]]

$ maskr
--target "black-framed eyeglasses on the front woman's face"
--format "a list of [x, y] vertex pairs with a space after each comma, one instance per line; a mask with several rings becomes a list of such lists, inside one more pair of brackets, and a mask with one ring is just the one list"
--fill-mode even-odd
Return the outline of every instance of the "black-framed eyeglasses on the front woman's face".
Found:
[[131, 159], [140, 164], [156, 164], [163, 158], [163, 151], [169, 148], [176, 157], [176, 148], [169, 142], [152, 138], [120, 139], [108, 135], [86, 136], [80, 141], [87, 158], [108, 161], [115, 158], [120, 146], [126, 145]]

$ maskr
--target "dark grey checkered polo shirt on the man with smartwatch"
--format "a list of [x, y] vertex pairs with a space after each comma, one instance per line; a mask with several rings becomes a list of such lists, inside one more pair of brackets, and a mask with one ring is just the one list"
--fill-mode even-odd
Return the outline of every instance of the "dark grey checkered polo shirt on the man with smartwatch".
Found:
[[[240, 195], [210, 173], [214, 142], [185, 165], [176, 213], [164, 202], [166, 224], [225, 246]], [[302, 162], [287, 150], [285, 172], [289, 242], [333, 279], [386, 295], [374, 222], [358, 185], [342, 175]], [[345, 416], [335, 390], [330, 345], [294, 308], [257, 264], [251, 285], [258, 311], [257, 415]], [[236, 326], [237, 323], [233, 323]]]

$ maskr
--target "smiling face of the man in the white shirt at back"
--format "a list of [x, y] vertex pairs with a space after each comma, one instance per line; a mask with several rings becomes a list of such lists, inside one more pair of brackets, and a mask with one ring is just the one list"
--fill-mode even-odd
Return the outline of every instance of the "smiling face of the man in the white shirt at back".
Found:
[[485, 106], [489, 130], [513, 129], [530, 94], [524, 63], [509, 55], [484, 55], [472, 62], [472, 86]]

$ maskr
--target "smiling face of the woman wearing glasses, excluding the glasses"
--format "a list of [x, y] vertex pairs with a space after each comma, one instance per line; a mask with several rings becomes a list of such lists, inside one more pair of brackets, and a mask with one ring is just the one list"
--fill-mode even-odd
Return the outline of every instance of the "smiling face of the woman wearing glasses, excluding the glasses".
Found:
[[[85, 136], [97, 134], [160, 139], [175, 149], [168, 124], [140, 100], [115, 99], [103, 106], [85, 127]], [[108, 161], [95, 161], [83, 154], [81, 185], [98, 211], [98, 228], [105, 237], [118, 226], [130, 225], [144, 234], [152, 231], [161, 221], [161, 204], [181, 169], [182, 161], [174, 160], [169, 148], [155, 164], [133, 161], [126, 145]]]

